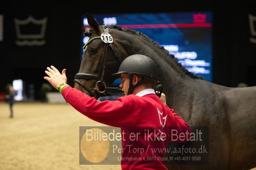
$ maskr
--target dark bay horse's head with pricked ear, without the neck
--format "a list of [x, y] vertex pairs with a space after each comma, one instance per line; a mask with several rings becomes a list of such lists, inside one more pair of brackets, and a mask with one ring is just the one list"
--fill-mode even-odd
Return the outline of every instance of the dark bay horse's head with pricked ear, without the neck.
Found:
[[[115, 50], [117, 41], [104, 41], [103, 38], [112, 38], [112, 31], [106, 26], [99, 26], [94, 18], [87, 14], [90, 27], [85, 27], [84, 36], [89, 36], [85, 44], [79, 72], [74, 78], [74, 88], [87, 93], [91, 97], [108, 95], [109, 91], [120, 89], [110, 87], [115, 80], [112, 73], [117, 72], [122, 56], [127, 56], [121, 50]], [[110, 36], [109, 36], [110, 35]], [[103, 36], [103, 37], [101, 37]], [[105, 37], [104, 37], [105, 36]]]

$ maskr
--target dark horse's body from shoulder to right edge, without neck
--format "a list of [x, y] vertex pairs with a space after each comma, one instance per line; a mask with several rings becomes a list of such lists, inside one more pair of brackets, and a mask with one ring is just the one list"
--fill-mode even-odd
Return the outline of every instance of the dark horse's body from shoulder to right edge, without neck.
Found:
[[201, 80], [194, 80], [194, 85], [189, 87], [192, 90], [185, 95], [187, 98], [169, 94], [169, 101], [173, 102], [169, 106], [191, 127], [209, 127], [209, 165], [174, 166], [174, 169], [255, 167], [256, 87], [226, 88]]

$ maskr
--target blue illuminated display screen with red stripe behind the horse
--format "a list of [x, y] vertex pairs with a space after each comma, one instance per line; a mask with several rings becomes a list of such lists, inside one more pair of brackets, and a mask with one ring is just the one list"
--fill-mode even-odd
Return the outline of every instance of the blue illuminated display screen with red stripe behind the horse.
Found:
[[[212, 13], [108, 13], [92, 16], [100, 25], [118, 25], [144, 33], [175, 55], [187, 70], [212, 81]], [[86, 17], [83, 17], [83, 26], [88, 26]], [[82, 38], [82, 47], [88, 39]]]

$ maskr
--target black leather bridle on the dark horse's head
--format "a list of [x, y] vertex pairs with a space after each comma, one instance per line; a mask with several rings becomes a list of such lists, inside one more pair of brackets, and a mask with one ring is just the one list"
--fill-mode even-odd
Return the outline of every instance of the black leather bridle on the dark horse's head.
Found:
[[[107, 34], [109, 35], [108, 27], [107, 26], [101, 26], [101, 27], [103, 29], [103, 33], [101, 34], [101, 36], [107, 35]], [[87, 45], [89, 45], [89, 43], [91, 43], [93, 40], [96, 40], [96, 39], [102, 40], [101, 36], [94, 36], [93, 38], [90, 38], [90, 40], [83, 46], [83, 49], [86, 49]], [[92, 73], [79, 73], [78, 72], [74, 76], [74, 82], [78, 83], [82, 88], [84, 88], [86, 91], [88, 91], [88, 93], [90, 93], [91, 96], [94, 96], [94, 97], [96, 97], [96, 92], [100, 93], [103, 96], [110, 95], [108, 92], [121, 92], [120, 88], [107, 86], [106, 82], [104, 81], [105, 67], [106, 67], [106, 63], [107, 63], [108, 46], [112, 49], [115, 58], [117, 58], [119, 63], [121, 63], [121, 58], [117, 55], [117, 52], [114, 50], [112, 43], [104, 42], [103, 58], [101, 60], [101, 70], [99, 70], [98, 75], [92, 74]], [[83, 83], [81, 83], [79, 81], [79, 79], [85, 79], [85, 80], [96, 79], [97, 82], [95, 84], [94, 89], [90, 90], [87, 86], [83, 85]]]

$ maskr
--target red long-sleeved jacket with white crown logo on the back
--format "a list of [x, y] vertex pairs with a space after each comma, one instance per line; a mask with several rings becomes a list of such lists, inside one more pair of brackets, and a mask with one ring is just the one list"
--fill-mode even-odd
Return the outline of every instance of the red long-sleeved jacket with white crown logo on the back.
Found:
[[[62, 91], [62, 95], [74, 109], [88, 118], [113, 127], [121, 127], [121, 132], [124, 132], [122, 169], [167, 169], [164, 161], [159, 159], [164, 157], [164, 153], [156, 151], [155, 148], [166, 148], [169, 141], [178, 139], [177, 134], [187, 134], [190, 130], [189, 125], [173, 109], [162, 104], [155, 94], [142, 97], [127, 95], [115, 101], [99, 102], [68, 86]], [[174, 137], [172, 130], [177, 132]], [[131, 140], [131, 133], [139, 135], [135, 140]], [[176, 142], [187, 140], [178, 139]], [[134, 153], [133, 148], [143, 149]], [[127, 157], [133, 159], [126, 159]]]

